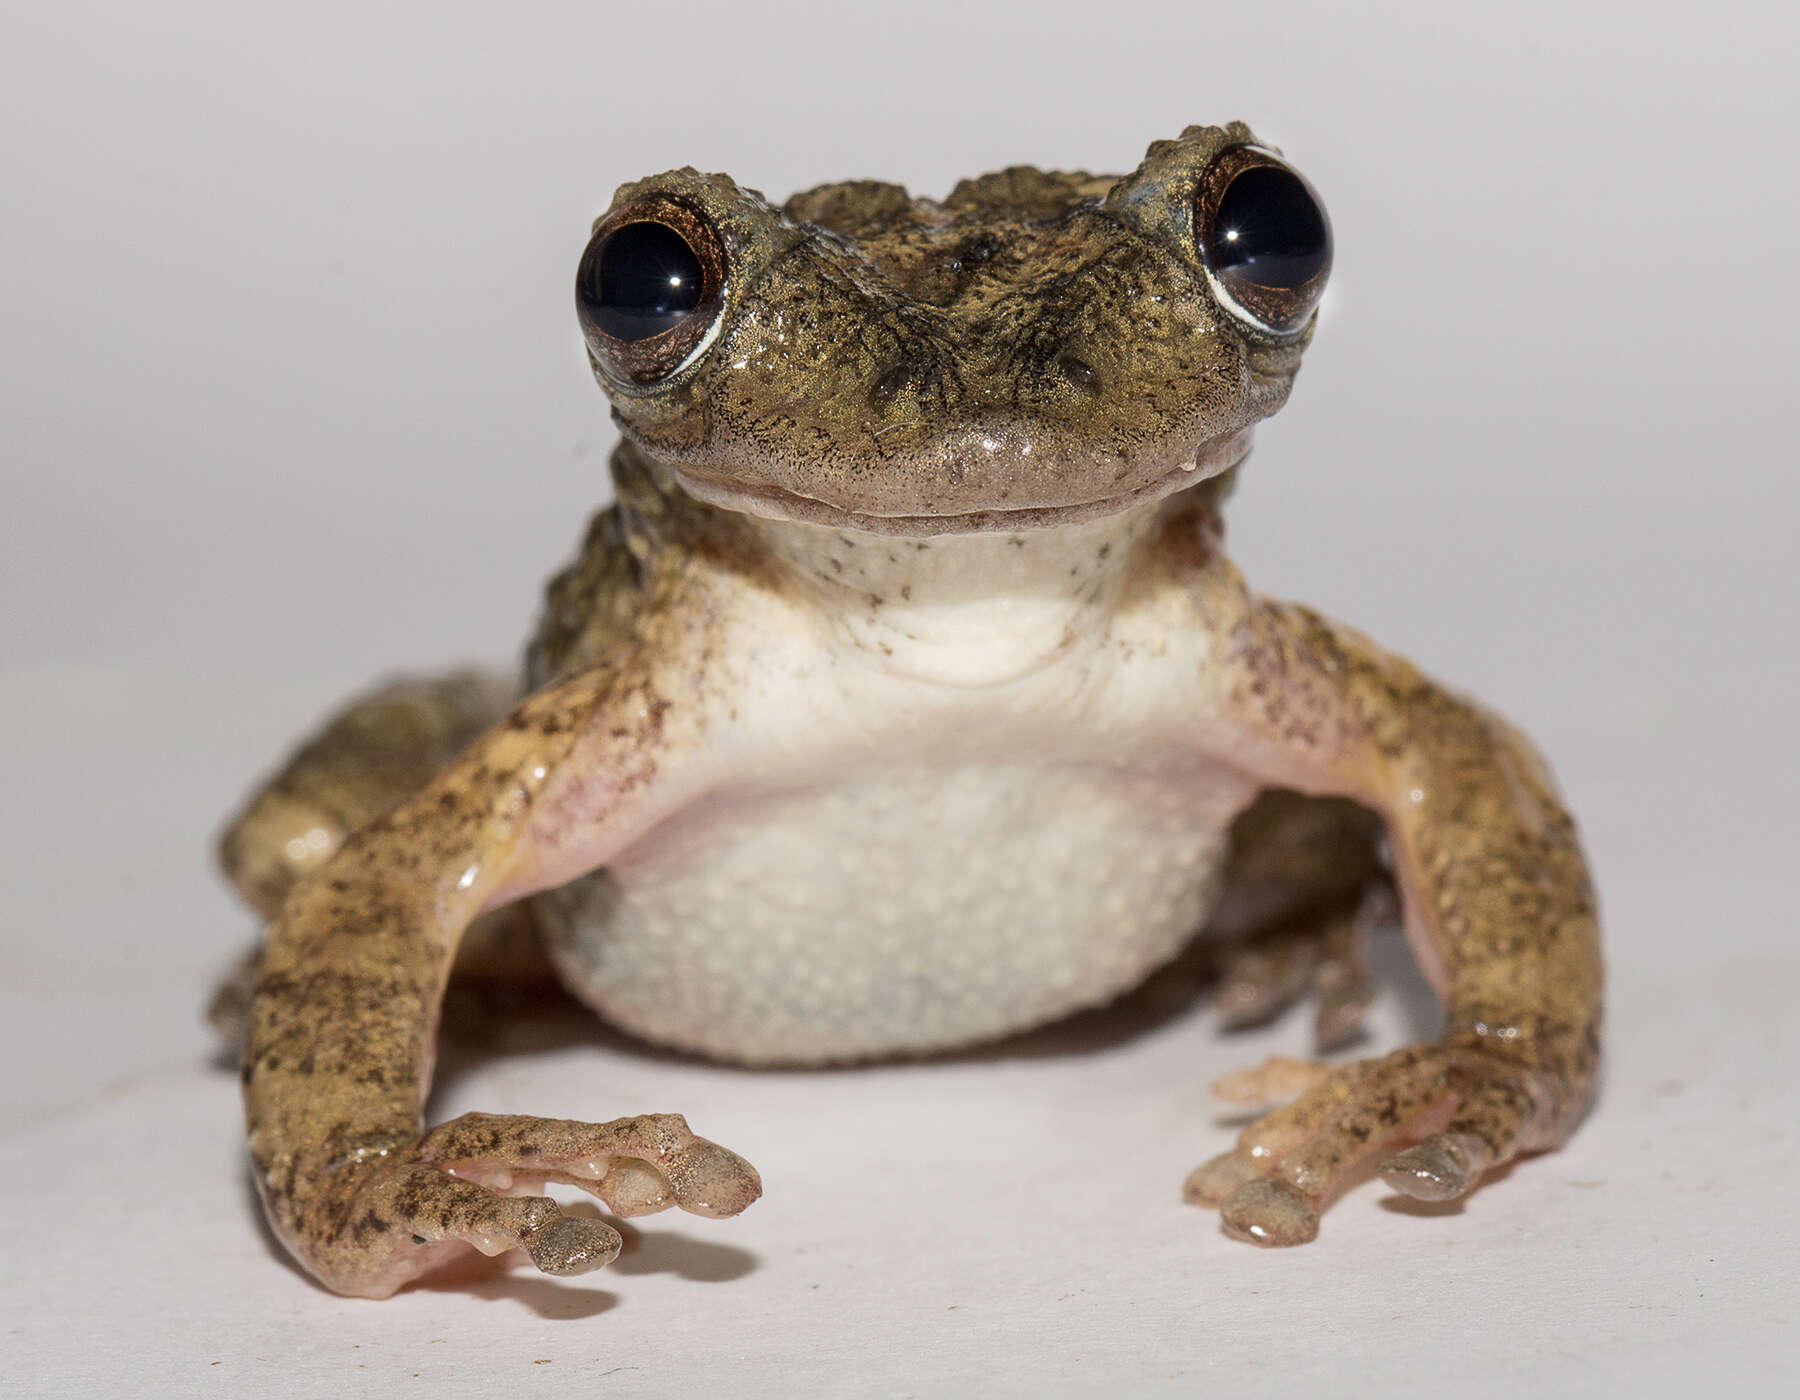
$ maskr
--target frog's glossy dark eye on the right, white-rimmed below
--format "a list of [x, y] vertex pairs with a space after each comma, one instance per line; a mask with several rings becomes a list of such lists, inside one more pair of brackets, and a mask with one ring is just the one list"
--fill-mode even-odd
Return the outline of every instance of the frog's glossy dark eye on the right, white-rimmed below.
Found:
[[1332, 270], [1332, 225], [1298, 173], [1255, 146], [1231, 148], [1193, 193], [1193, 241], [1233, 317], [1278, 338], [1305, 329]]

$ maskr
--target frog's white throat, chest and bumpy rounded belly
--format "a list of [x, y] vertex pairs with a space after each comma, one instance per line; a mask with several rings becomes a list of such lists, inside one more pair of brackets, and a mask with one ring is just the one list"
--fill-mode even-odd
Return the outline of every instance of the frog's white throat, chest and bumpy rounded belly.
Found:
[[756, 660], [704, 799], [540, 902], [569, 986], [812, 1063], [990, 1040], [1170, 959], [1256, 783], [1195, 743], [1206, 630], [1116, 608], [1156, 511], [923, 549], [758, 522], [799, 587], [725, 624]]

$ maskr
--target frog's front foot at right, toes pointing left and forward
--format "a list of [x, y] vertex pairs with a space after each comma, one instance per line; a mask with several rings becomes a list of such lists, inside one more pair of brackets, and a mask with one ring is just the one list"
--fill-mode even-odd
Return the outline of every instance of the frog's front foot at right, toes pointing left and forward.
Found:
[[1395, 1191], [1453, 1200], [1519, 1152], [1553, 1146], [1561, 1130], [1550, 1125], [1566, 1117], [1559, 1098], [1544, 1074], [1472, 1037], [1413, 1046], [1325, 1071], [1244, 1128], [1231, 1152], [1195, 1168], [1184, 1195], [1217, 1206], [1237, 1240], [1307, 1243], [1370, 1155], [1391, 1153], [1381, 1175]]

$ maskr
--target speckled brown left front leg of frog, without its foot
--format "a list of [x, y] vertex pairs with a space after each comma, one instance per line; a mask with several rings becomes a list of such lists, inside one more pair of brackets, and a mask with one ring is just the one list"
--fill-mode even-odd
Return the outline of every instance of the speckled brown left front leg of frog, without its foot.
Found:
[[[311, 1260], [362, 1173], [419, 1134], [419, 1105], [457, 939], [488, 902], [536, 882], [540, 803], [617, 686], [594, 671], [522, 704], [416, 797], [351, 837], [270, 929], [252, 1002], [245, 1114], [277, 1227]], [[616, 696], [610, 696], [616, 700]], [[628, 732], [617, 745], [630, 752]], [[592, 741], [590, 738], [587, 740]], [[612, 788], [641, 774], [614, 763]], [[607, 785], [587, 804], [605, 828]], [[373, 1227], [373, 1225], [371, 1225]]]

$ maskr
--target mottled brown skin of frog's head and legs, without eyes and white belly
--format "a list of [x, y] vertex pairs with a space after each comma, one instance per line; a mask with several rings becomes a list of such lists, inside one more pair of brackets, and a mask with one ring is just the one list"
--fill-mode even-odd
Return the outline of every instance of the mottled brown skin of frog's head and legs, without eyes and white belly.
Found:
[[[655, 194], [700, 209], [731, 277], [716, 340], [675, 374], [639, 383], [594, 360], [626, 437], [619, 504], [551, 585], [531, 693], [475, 736], [452, 687], [432, 702], [450, 718], [401, 723], [373, 763], [355, 736], [382, 732], [364, 711], [389, 700], [353, 707], [225, 840], [257, 907], [284, 898], [245, 1107], [270, 1218], [326, 1285], [385, 1296], [466, 1247], [522, 1247], [547, 1272], [610, 1260], [608, 1225], [509, 1195], [542, 1182], [626, 1215], [731, 1215], [760, 1193], [747, 1162], [673, 1116], [425, 1130], [419, 1112], [470, 921], [607, 864], [742, 759], [736, 696], [756, 677], [734, 642], [745, 615], [792, 601], [797, 576], [740, 511], [923, 551], [1166, 497], [1121, 545], [1112, 624], [1211, 641], [1192, 743], [1269, 790], [1233, 828], [1213, 918], [1246, 954], [1228, 1010], [1247, 1020], [1292, 1001], [1310, 981], [1296, 948], [1323, 939], [1321, 1038], [1354, 1028], [1355, 945], [1390, 889], [1381, 830], [1447, 1001], [1442, 1040], [1312, 1076], [1190, 1177], [1228, 1231], [1310, 1238], [1372, 1153], [1390, 1153], [1397, 1189], [1447, 1198], [1568, 1135], [1597, 1069], [1600, 956], [1541, 759], [1354, 632], [1256, 597], [1222, 552], [1231, 470], [1310, 335], [1235, 322], [1195, 261], [1199, 173], [1249, 140], [1190, 128], [1121, 180], [1012, 169], [941, 203], [851, 182], [778, 211], [693, 171], [621, 189], [616, 207]], [[445, 761], [450, 736], [470, 743]]]

